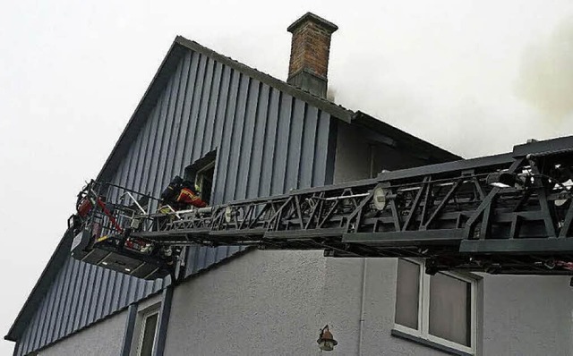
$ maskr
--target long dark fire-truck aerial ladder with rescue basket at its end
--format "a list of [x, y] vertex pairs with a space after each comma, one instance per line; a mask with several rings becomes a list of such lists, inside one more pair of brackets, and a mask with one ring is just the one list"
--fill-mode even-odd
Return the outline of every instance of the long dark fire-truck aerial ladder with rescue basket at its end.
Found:
[[[188, 246], [420, 258], [426, 273], [573, 275], [573, 136], [376, 178], [158, 212], [158, 199], [90, 182], [69, 220], [75, 259], [145, 279]], [[181, 269], [181, 268], [179, 268]]]

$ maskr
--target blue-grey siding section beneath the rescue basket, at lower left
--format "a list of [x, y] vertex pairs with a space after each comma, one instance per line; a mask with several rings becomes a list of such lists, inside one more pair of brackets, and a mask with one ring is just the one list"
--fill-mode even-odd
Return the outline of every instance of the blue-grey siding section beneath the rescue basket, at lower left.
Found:
[[[160, 290], [163, 280], [142, 281], [67, 259], [30, 320], [15, 354], [37, 350]], [[122, 331], [123, 333], [123, 331]], [[75, 336], [68, 340], [75, 339]]]

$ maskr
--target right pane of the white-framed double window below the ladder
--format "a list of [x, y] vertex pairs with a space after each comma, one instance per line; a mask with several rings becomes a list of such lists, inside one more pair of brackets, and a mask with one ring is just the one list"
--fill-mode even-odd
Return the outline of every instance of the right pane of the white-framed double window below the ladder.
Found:
[[430, 278], [430, 334], [471, 346], [471, 284], [436, 274]]

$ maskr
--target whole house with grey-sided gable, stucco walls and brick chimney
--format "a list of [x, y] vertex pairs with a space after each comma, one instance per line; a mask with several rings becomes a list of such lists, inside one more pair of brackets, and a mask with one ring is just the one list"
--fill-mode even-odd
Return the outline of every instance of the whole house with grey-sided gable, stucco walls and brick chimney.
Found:
[[[279, 81], [175, 38], [98, 174], [159, 192], [198, 177], [211, 204], [460, 157], [325, 98], [337, 26], [307, 13]], [[209, 189], [208, 187], [211, 187]], [[143, 281], [70, 257], [64, 237], [5, 336], [14, 355], [566, 355], [564, 277], [423, 275], [423, 263], [195, 248], [186, 278]]]

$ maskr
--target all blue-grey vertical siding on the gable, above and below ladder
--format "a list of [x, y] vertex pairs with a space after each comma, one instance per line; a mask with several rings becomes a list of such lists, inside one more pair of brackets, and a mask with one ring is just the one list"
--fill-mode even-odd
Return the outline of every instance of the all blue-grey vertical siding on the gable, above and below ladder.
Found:
[[[189, 50], [129, 148], [116, 152], [119, 165], [101, 176], [158, 196], [175, 174], [217, 150], [215, 204], [323, 185], [329, 183], [330, 120], [300, 99]], [[239, 250], [192, 248], [187, 275]], [[15, 353], [38, 350], [167, 284], [68, 259]]]

